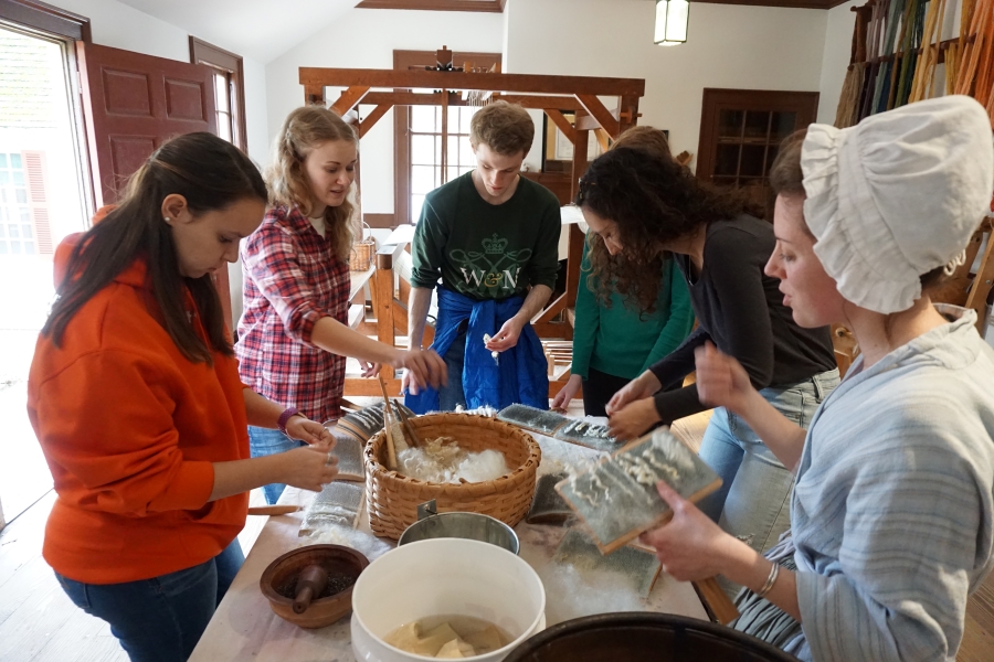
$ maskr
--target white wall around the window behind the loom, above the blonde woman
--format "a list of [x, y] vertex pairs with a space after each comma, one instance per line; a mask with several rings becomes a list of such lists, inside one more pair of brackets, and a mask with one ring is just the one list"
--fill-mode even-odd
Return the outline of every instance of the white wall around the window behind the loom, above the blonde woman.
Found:
[[[304, 104], [298, 67], [393, 68], [393, 51], [500, 53], [504, 15], [486, 12], [441, 12], [353, 9], [341, 20], [300, 42], [266, 66], [268, 135], [275, 136], [286, 115]], [[328, 102], [336, 98], [327, 92]], [[366, 108], [360, 108], [366, 110]], [[393, 111], [364, 137], [362, 211], [393, 213]]]

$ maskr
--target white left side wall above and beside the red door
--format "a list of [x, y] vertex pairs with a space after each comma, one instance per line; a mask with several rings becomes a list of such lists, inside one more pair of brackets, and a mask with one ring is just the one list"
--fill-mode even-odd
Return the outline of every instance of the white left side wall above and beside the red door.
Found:
[[[156, 57], [190, 62], [189, 34], [116, 0], [50, 0], [89, 19], [93, 43], [135, 51]], [[214, 44], [226, 49], [225, 44]], [[266, 154], [265, 70], [261, 63], [244, 58], [245, 124], [248, 156], [262, 162]]]

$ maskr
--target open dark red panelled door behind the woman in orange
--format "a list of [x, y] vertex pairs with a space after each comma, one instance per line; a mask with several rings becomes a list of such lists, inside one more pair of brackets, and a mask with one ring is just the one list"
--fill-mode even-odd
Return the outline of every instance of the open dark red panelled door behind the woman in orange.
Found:
[[[218, 135], [211, 67], [76, 42], [83, 114], [97, 207], [113, 204], [128, 178], [165, 140]], [[228, 270], [213, 276], [231, 320]]]

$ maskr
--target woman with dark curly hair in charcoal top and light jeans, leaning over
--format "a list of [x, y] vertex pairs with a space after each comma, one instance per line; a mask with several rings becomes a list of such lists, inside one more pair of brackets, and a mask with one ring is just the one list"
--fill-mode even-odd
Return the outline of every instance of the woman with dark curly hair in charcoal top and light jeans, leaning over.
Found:
[[[738, 199], [709, 190], [672, 159], [631, 147], [591, 164], [577, 204], [609, 253], [623, 257], [595, 265], [602, 289], [614, 284], [648, 309], [659, 277], [646, 267], [672, 254], [699, 322], [680, 346], [611, 398], [607, 414], [617, 438], [632, 439], [709, 408], [696, 385], [666, 391], [694, 371], [694, 350], [708, 341], [738, 359], [778, 410], [807, 425], [838, 384], [838, 370], [828, 328], [799, 327], [778, 280], [763, 274], [776, 243], [768, 222], [748, 215]], [[721, 408], [711, 416], [700, 456], [722, 479], [701, 510], [757, 551], [776, 542], [790, 525], [791, 472], [749, 426]]]

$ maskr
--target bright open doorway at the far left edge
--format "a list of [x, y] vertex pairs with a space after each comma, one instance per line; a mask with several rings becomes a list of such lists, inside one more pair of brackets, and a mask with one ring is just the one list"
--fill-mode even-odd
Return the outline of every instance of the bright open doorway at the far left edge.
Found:
[[89, 217], [71, 57], [64, 41], [0, 25], [0, 520], [7, 522], [52, 488], [28, 421], [28, 371], [55, 293], [54, 247]]

